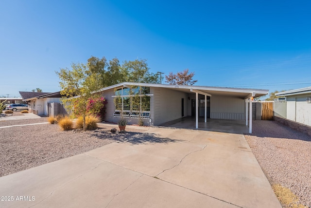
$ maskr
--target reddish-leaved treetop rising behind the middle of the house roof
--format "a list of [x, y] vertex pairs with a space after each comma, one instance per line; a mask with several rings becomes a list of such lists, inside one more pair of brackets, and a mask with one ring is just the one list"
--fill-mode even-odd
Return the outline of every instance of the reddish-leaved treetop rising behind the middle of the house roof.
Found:
[[193, 80], [194, 72], [189, 73], [189, 69], [185, 69], [183, 72], [177, 72], [173, 74], [170, 72], [168, 76], [165, 76], [166, 82], [169, 84], [177, 84], [177, 85], [193, 85], [198, 80]]

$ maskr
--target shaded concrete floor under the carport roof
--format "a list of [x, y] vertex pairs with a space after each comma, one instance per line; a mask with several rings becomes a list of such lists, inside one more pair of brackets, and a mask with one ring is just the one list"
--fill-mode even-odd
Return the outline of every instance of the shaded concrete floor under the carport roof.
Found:
[[[195, 122], [196, 121], [194, 116], [187, 116], [163, 123], [159, 126], [181, 128], [181, 129], [196, 129]], [[248, 126], [245, 125], [244, 120], [223, 120], [223, 119], [207, 118], [207, 122], [205, 123], [204, 117], [199, 117], [198, 124], [199, 130], [210, 132], [225, 132], [237, 134], [249, 132]]]

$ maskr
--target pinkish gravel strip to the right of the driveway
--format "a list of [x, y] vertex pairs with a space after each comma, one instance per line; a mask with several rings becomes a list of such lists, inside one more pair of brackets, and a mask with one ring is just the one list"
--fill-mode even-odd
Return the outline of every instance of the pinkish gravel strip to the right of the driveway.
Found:
[[253, 121], [245, 138], [271, 185], [281, 184], [311, 208], [311, 136], [276, 121]]

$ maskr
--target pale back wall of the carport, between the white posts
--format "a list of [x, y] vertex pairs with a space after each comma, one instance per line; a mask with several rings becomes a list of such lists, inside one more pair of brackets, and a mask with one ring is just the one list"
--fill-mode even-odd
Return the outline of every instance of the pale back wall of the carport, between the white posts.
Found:
[[212, 95], [210, 118], [245, 120], [245, 100], [238, 97]]

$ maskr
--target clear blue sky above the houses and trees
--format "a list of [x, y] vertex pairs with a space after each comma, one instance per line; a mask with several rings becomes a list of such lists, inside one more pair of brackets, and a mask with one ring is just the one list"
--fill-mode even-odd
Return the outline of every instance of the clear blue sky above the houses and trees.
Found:
[[90, 56], [147, 59], [196, 85], [311, 86], [311, 1], [2, 0], [0, 96], [59, 91], [55, 71]]

